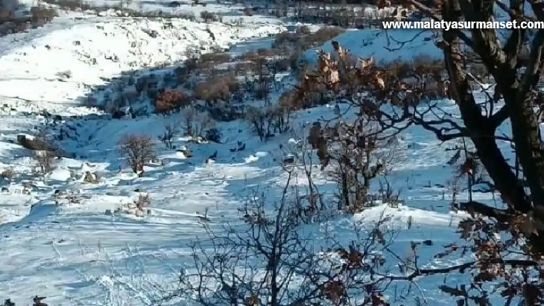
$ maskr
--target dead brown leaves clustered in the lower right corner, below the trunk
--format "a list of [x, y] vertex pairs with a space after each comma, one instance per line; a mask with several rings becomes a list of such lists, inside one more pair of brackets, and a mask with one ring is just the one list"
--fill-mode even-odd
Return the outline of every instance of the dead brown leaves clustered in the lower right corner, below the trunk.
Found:
[[[540, 255], [531, 252], [525, 238], [534, 235], [534, 221], [530, 215], [512, 215], [508, 221], [506, 233], [504, 224], [488, 217], [474, 214], [473, 218], [459, 223], [461, 239], [471, 243], [464, 247], [451, 244], [436, 258], [446, 257], [460, 251], [461, 257], [468, 252], [473, 254], [475, 261], [463, 265], [460, 273], [471, 269], [474, 271], [469, 285], [447, 286], [440, 289], [449, 295], [459, 297], [458, 305], [491, 305], [489, 293], [483, 288], [486, 283], [493, 283], [495, 291], [505, 297], [522, 299], [524, 305], [540, 305], [544, 283], [544, 261]], [[512, 253], [535, 254], [531, 259], [515, 259]], [[535, 278], [536, 274], [539, 278]], [[470, 303], [469, 303], [470, 302]], [[509, 304], [509, 303], [507, 303]]]

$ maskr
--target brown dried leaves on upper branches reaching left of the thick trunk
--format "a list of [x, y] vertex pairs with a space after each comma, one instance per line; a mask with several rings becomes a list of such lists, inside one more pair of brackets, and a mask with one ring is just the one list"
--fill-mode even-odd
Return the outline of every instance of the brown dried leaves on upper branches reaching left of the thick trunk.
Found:
[[[333, 53], [318, 51], [318, 67], [301, 76], [296, 95], [307, 107], [324, 104], [335, 97], [368, 96], [374, 104], [392, 103], [415, 107], [425, 97], [445, 95], [443, 64], [429, 57], [418, 57], [411, 65], [393, 61], [377, 65], [373, 58], [354, 57], [338, 41], [332, 41]], [[416, 81], [409, 84], [410, 78]], [[427, 85], [431, 79], [431, 85]]]

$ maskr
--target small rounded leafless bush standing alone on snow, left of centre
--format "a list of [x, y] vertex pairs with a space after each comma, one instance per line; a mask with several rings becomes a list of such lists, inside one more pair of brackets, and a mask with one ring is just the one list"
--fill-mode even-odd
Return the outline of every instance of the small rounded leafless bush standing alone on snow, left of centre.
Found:
[[125, 135], [118, 146], [121, 157], [134, 173], [143, 173], [144, 166], [156, 157], [153, 140], [147, 135]]

